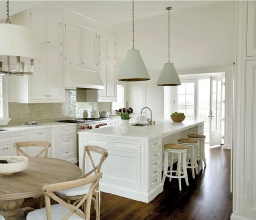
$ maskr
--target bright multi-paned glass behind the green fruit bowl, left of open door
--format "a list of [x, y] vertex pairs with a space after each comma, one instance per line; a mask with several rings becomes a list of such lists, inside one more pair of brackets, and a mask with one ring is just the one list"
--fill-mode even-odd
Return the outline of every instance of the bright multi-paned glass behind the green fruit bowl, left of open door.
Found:
[[[185, 80], [184, 80], [185, 81]], [[187, 120], [196, 119], [196, 81], [182, 82], [178, 86], [178, 104], [177, 111], [183, 112]]]

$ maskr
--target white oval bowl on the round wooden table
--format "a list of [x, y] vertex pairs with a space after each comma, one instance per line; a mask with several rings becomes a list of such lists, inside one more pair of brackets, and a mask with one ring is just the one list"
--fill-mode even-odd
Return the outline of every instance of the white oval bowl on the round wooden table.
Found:
[[17, 163], [0, 163], [0, 174], [11, 175], [25, 170], [28, 167], [28, 157], [24, 156], [0, 156], [0, 160], [6, 160], [8, 157], [19, 160]]

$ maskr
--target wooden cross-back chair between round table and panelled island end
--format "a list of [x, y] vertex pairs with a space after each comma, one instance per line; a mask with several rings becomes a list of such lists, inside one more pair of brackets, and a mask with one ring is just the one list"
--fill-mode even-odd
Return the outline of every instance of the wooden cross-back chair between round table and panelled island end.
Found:
[[[100, 160], [98, 165], [95, 165], [91, 152], [94, 153], [99, 153], [101, 154]], [[92, 163], [93, 169], [89, 172], [85, 173], [85, 159], [86, 159], [86, 154], [88, 155], [90, 162]], [[83, 178], [88, 177], [91, 175], [93, 172], [99, 173], [101, 170], [102, 163], [105, 161], [105, 159], [108, 156], [108, 151], [104, 148], [98, 147], [98, 146], [84, 146], [84, 153], [83, 153], [83, 164], [82, 164], [82, 171], [83, 171]], [[68, 190], [62, 190], [58, 191], [57, 194], [64, 200], [67, 200], [68, 203], [71, 201], [73, 202], [73, 205], [75, 205], [77, 202], [79, 202], [84, 194], [88, 192], [88, 187], [76, 187], [74, 189], [68, 189]], [[96, 212], [96, 219], [100, 220], [100, 191], [99, 191], [99, 185], [95, 187], [95, 192], [92, 195], [92, 200], [94, 201], [94, 209]], [[84, 205], [83, 205], [84, 206]], [[83, 207], [85, 209], [85, 207]]]

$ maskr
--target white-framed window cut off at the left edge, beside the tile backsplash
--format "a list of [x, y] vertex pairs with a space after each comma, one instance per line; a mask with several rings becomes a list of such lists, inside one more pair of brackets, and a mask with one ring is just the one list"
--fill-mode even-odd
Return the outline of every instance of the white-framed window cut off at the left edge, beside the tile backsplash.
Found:
[[0, 76], [0, 125], [7, 125], [8, 121], [10, 120], [8, 118], [6, 83], [6, 78]]

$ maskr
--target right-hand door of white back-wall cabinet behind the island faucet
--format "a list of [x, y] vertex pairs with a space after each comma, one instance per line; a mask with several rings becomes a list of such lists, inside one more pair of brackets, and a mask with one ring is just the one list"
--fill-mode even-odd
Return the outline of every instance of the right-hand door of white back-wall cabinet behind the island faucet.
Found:
[[[152, 120], [162, 119], [162, 97], [162, 88], [145, 88], [145, 106], [152, 110]], [[146, 117], [150, 118], [148, 109]]]

